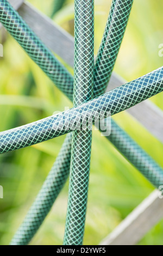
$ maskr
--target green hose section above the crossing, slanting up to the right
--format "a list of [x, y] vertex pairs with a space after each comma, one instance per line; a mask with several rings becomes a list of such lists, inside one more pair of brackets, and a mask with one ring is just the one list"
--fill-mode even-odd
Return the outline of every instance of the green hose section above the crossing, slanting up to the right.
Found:
[[105, 92], [126, 31], [134, 0], [113, 0], [96, 58], [94, 95]]

